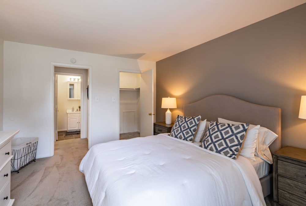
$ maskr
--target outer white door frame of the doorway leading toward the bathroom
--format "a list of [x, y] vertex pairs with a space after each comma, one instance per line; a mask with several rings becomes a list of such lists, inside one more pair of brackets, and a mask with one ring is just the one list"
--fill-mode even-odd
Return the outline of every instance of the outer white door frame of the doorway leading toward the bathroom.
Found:
[[[50, 129], [50, 156], [54, 155], [54, 67], [68, 67], [68, 68], [76, 68], [76, 69], [88, 69], [88, 149], [92, 146], [92, 138], [91, 138], [91, 72], [92, 67], [86, 66], [86, 65], [76, 65], [76, 64], [64, 64], [64, 63], [57, 63], [57, 62], [50, 62], [50, 99], [51, 99], [51, 105], [50, 105], [50, 113], [51, 113], [51, 129]], [[83, 84], [82, 84], [83, 85]], [[83, 92], [81, 93], [83, 94]], [[81, 97], [82, 99], [82, 97]], [[84, 110], [84, 109], [82, 109]], [[82, 111], [81, 111], [82, 112]]]

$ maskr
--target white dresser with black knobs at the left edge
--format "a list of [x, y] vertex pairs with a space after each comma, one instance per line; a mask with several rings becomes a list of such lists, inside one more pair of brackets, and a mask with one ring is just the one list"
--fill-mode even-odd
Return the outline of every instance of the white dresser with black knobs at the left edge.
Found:
[[11, 140], [19, 130], [0, 131], [0, 205], [11, 206]]

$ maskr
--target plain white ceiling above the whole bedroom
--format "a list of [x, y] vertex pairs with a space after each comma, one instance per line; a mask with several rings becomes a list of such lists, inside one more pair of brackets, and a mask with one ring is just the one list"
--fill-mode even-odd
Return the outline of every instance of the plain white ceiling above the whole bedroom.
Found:
[[0, 0], [6, 41], [159, 61], [306, 0]]

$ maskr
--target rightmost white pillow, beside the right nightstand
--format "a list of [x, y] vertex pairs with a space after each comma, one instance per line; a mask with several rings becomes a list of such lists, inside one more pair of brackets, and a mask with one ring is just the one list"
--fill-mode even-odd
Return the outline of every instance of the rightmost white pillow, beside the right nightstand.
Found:
[[255, 155], [265, 160], [267, 163], [272, 164], [272, 155], [269, 146], [278, 137], [277, 134], [267, 129], [266, 127], [260, 127], [258, 133], [258, 142], [256, 145]]

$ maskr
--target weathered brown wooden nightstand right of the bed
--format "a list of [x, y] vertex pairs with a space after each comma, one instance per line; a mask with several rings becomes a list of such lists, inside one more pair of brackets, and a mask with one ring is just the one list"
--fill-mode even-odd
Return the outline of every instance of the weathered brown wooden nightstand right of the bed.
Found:
[[273, 153], [273, 205], [306, 205], [306, 149], [286, 146]]

